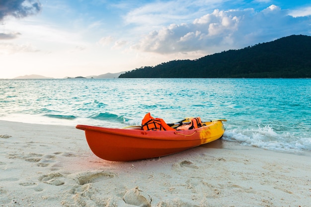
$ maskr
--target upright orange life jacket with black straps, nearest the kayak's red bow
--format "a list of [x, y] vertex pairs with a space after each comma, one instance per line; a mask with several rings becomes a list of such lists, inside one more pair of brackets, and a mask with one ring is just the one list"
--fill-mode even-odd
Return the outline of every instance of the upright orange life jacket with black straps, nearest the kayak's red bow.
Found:
[[146, 131], [175, 131], [175, 129], [169, 127], [164, 120], [159, 118], [153, 118], [150, 113], [146, 114], [142, 121], [143, 130]]

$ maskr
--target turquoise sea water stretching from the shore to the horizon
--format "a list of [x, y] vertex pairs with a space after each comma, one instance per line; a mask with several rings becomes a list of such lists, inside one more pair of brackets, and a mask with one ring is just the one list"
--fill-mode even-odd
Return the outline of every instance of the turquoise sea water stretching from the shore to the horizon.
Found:
[[167, 123], [227, 119], [227, 141], [311, 150], [311, 79], [0, 80], [0, 120], [119, 128], [148, 112]]

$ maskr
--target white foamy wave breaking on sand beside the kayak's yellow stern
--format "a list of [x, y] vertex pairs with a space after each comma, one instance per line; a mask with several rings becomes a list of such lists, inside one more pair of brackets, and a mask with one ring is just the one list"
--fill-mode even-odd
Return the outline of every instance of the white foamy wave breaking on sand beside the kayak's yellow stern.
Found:
[[242, 145], [256, 146], [268, 150], [297, 152], [311, 150], [311, 138], [295, 133], [278, 134], [270, 126], [258, 129], [233, 129], [226, 131], [223, 137], [227, 141], [236, 141]]

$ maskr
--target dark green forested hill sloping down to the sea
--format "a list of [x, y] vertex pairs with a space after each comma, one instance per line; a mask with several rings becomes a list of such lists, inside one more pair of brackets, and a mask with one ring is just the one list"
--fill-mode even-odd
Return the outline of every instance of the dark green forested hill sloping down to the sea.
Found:
[[311, 77], [311, 37], [292, 35], [273, 42], [229, 50], [197, 60], [142, 67], [119, 78]]

